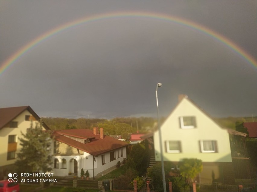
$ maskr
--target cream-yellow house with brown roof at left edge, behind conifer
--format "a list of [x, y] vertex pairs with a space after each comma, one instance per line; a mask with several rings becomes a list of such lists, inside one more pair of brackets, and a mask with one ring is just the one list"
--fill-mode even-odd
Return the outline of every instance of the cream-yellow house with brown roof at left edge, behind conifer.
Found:
[[[40, 120], [30, 106], [0, 108], [0, 180], [12, 172], [16, 154], [20, 151], [19, 137]], [[43, 123], [43, 128], [49, 130]]]

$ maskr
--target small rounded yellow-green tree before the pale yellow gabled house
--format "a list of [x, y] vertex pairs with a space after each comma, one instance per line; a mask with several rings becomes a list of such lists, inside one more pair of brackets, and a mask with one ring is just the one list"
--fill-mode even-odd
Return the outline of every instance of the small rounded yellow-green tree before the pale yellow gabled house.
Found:
[[203, 169], [200, 159], [183, 159], [179, 162], [179, 171], [182, 177], [187, 178], [188, 182], [193, 182], [198, 173]]

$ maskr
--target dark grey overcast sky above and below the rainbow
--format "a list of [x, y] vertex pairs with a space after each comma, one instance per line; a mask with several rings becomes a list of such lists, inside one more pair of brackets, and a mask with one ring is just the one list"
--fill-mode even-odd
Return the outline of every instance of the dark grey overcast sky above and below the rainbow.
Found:
[[[0, 65], [67, 22], [113, 12], [193, 21], [257, 59], [257, 1], [0, 0]], [[40, 117], [168, 115], [186, 94], [214, 117], [257, 115], [257, 66], [196, 29], [143, 17], [83, 23], [45, 39], [0, 74], [0, 107]]]

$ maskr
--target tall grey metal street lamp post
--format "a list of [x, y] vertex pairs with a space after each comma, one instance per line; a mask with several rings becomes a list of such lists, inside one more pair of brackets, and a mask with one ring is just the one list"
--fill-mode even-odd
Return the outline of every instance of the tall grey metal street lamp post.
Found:
[[159, 106], [158, 106], [158, 87], [161, 87], [161, 83], [157, 83], [156, 86], [156, 103], [157, 103], [157, 119], [158, 119], [158, 130], [159, 130], [159, 145], [160, 145], [160, 157], [161, 157], [161, 169], [162, 169], [162, 180], [163, 180], [163, 191], [166, 192], [166, 181], [165, 181], [165, 172], [164, 172], [164, 162], [163, 162], [163, 152], [162, 152], [162, 139], [161, 139], [161, 130], [160, 130], [160, 119], [159, 119]]

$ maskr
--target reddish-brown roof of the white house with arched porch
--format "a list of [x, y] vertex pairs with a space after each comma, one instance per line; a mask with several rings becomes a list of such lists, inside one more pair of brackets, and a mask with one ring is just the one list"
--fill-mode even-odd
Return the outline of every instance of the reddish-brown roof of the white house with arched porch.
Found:
[[[94, 139], [92, 139], [92, 142], [84, 144], [84, 143], [75, 141], [74, 139], [68, 138], [64, 135], [73, 136], [81, 139], [87, 139], [87, 138], [94, 138]], [[94, 156], [129, 145], [126, 142], [120, 141], [118, 139], [114, 139], [107, 135], [104, 135], [103, 139], [101, 139], [100, 135], [94, 135], [93, 130], [89, 130], [89, 129], [58, 130], [55, 132], [55, 139], [57, 141], [60, 141], [72, 147], [78, 148]]]

